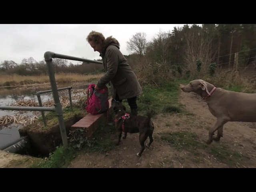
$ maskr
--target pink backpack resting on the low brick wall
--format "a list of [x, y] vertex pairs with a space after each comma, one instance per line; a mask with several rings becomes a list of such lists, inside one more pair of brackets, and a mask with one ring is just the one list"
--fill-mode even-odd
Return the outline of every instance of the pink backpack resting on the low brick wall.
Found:
[[87, 89], [86, 111], [92, 115], [101, 114], [108, 110], [108, 87], [95, 90], [96, 84], [90, 84]]

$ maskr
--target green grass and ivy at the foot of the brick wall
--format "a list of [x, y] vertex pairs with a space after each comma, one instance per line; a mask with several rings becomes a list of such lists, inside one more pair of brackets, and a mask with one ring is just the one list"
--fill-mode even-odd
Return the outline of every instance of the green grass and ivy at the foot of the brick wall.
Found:
[[[65, 109], [64, 119], [68, 118], [73, 113], [69, 109]], [[74, 109], [74, 113], [80, 113], [80, 110]], [[113, 112], [110, 111], [110, 114]], [[53, 113], [46, 115], [48, 120], [55, 119]], [[83, 129], [77, 129], [68, 135], [68, 148], [58, 147], [48, 158], [40, 162], [34, 162], [30, 168], [65, 168], [73, 158], [80, 153], [106, 153], [116, 147], [114, 144], [114, 125], [104, 125], [103, 123], [97, 128], [94, 133], [94, 138], [84, 138]]]

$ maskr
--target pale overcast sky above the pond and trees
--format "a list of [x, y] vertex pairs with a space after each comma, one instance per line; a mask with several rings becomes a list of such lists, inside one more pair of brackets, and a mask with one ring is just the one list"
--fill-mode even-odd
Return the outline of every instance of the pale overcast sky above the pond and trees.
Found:
[[[13, 60], [20, 64], [22, 59], [33, 57], [36, 61], [44, 60], [46, 51], [69, 56], [99, 59], [86, 41], [92, 30], [102, 32], [105, 37], [113, 36], [120, 43], [124, 55], [126, 41], [136, 32], [145, 32], [151, 40], [161, 29], [172, 31], [174, 26], [184, 24], [0, 24], [0, 62]], [[69, 62], [76, 63], [72, 60]]]

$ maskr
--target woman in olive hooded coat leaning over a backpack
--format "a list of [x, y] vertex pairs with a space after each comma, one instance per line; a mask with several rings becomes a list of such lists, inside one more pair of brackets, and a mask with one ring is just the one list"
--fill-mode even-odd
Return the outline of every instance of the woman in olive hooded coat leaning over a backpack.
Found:
[[142, 94], [142, 88], [126, 58], [120, 52], [118, 40], [112, 36], [105, 39], [102, 33], [95, 31], [90, 32], [86, 40], [94, 51], [100, 53], [106, 70], [104, 76], [98, 80], [95, 89], [102, 88], [111, 82], [112, 98], [120, 102], [127, 99], [131, 114], [137, 115], [136, 100], [137, 96]]

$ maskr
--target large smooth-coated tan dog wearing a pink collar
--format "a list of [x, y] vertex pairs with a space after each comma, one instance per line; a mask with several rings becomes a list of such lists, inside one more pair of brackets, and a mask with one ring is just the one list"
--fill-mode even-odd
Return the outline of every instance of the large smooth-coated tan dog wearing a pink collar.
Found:
[[[256, 94], [239, 93], [222, 88], [198, 79], [182, 86], [183, 92], [194, 92], [202, 97], [208, 104], [208, 108], [216, 122], [209, 129], [207, 144], [213, 140], [219, 141], [223, 136], [223, 126], [227, 122], [256, 122]], [[217, 130], [217, 137], [213, 138]]]

